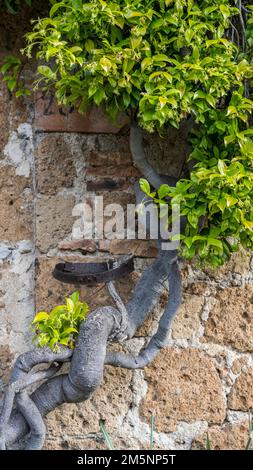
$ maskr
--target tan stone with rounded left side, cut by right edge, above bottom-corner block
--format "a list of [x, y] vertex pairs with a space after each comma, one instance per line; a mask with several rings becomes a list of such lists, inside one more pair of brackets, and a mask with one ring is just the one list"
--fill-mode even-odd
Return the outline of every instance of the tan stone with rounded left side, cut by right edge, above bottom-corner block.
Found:
[[232, 410], [253, 410], [253, 367], [241, 373], [228, 397]]

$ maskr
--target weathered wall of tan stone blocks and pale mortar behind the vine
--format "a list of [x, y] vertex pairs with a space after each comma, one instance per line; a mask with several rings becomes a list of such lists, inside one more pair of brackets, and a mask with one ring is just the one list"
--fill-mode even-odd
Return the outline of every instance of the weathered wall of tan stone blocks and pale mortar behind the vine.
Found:
[[[6, 39], [16, 26], [4, 25], [1, 18], [0, 53], [10, 44], [12, 49], [20, 46]], [[20, 28], [26, 25], [23, 19]], [[77, 119], [83, 132], [75, 133], [66, 128], [68, 119], [57, 118], [54, 111], [50, 120], [54, 129], [48, 132], [43, 116], [38, 130], [41, 108], [35, 116], [32, 99], [17, 101], [3, 85], [0, 110], [3, 386], [14, 358], [31, 347], [29, 323], [34, 312], [61, 303], [74, 289], [53, 279], [52, 269], [59, 259], [90, 261], [135, 253], [134, 273], [117, 282], [127, 300], [156, 250], [145, 241], [71, 239], [77, 215], [73, 208], [84, 199], [97, 194], [104, 196], [106, 204], [134, 202], [132, 187], [139, 175], [132, 166], [127, 127], [118, 134], [112, 133], [115, 129], [90, 134], [90, 121], [80, 124]], [[105, 125], [101, 120], [96, 122], [98, 132]], [[161, 165], [159, 170], [167, 169], [174, 176], [182, 172], [187, 153], [184, 130], [172, 131], [163, 141], [149, 137], [145, 145], [149, 158]], [[204, 448], [207, 431], [214, 448], [244, 448], [248, 411], [253, 408], [252, 268], [251, 256], [245, 252], [219, 271], [200, 271], [182, 263], [184, 301], [167, 348], [144, 371], [106, 367], [103, 385], [90, 400], [63, 405], [48, 416], [45, 448], [104, 449], [99, 433], [103, 418], [117, 448], [145, 449], [152, 413], [157, 449]], [[103, 285], [84, 286], [80, 291], [91, 308], [111, 303]], [[164, 292], [136, 337], [124, 344], [125, 351], [137, 353], [155, 331], [166, 298]]]

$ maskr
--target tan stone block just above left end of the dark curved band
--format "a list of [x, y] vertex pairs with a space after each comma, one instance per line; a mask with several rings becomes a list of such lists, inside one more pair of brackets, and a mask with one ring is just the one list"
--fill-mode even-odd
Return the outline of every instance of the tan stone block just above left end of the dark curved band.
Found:
[[37, 247], [45, 253], [71, 233], [73, 196], [41, 196], [37, 201]]

